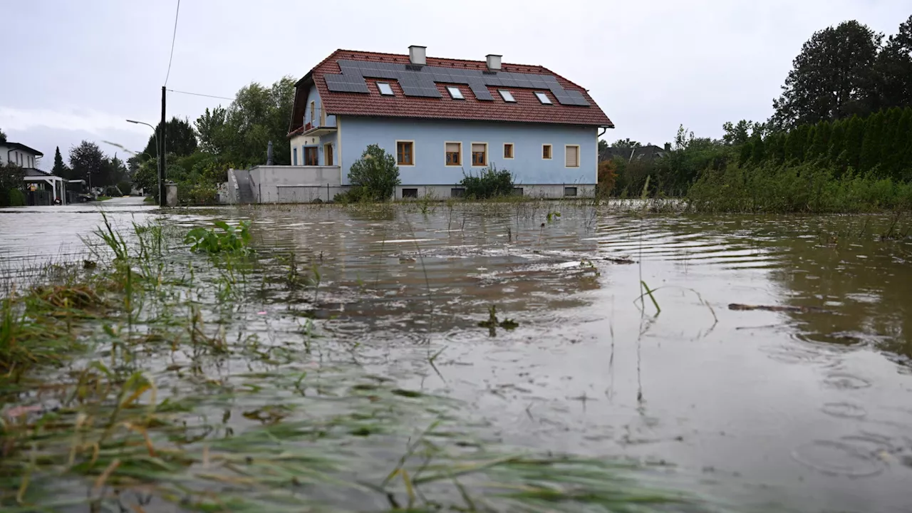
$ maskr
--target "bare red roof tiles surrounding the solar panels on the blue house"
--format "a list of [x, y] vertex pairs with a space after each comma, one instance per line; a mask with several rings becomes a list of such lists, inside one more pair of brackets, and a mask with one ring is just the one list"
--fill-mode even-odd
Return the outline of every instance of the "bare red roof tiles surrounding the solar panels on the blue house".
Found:
[[[295, 99], [294, 119], [291, 123], [291, 133], [294, 135], [303, 130], [301, 126], [305, 116], [307, 90], [316, 85], [326, 114], [347, 114], [354, 116], [389, 116], [399, 118], [424, 118], [445, 120], [492, 120], [492, 121], [518, 121], [530, 123], [554, 123], [568, 125], [588, 125], [597, 127], [614, 128], [614, 123], [608, 119], [595, 100], [586, 89], [557, 75], [548, 68], [541, 66], [525, 66], [520, 64], [502, 65], [502, 71], [512, 73], [528, 73], [534, 75], [552, 75], [566, 90], [579, 91], [589, 102], [589, 106], [562, 105], [554, 98], [552, 105], [544, 105], [534, 96], [535, 90], [546, 89], [520, 89], [498, 88], [489, 86], [493, 101], [475, 99], [472, 90], [465, 84], [451, 84], [459, 86], [465, 99], [452, 99], [445, 87], [447, 84], [436, 83], [442, 98], [426, 98], [405, 96], [395, 79], [366, 79], [368, 94], [358, 92], [337, 92], [326, 87], [326, 75], [341, 73], [338, 60], [361, 60], [385, 63], [409, 64], [408, 55], [382, 54], [376, 52], [362, 52], [355, 50], [336, 50], [323, 62], [316, 65], [307, 75], [297, 83], [297, 98]], [[427, 66], [440, 68], [462, 68], [486, 70], [487, 63], [478, 60], [460, 60], [454, 58], [427, 58]], [[390, 82], [395, 96], [381, 96], [377, 89], [377, 82]], [[515, 103], [503, 101], [497, 89], [508, 89], [513, 93]], [[548, 93], [549, 97], [552, 97]]]

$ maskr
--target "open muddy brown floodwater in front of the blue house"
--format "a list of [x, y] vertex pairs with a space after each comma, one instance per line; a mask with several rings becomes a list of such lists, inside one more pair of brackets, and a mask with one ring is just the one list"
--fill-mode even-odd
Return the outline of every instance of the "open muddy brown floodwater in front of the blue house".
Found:
[[[736, 509], [912, 504], [907, 218], [558, 203], [160, 214], [124, 199], [0, 209], [0, 268], [81, 255], [99, 208], [119, 223], [252, 220], [257, 251], [317, 266], [320, 330], [369, 348], [370, 372], [461, 400], [505, 443], [664, 462]], [[258, 300], [272, 324], [251, 330], [290, 322], [284, 298]], [[492, 306], [518, 327], [479, 327]]]

